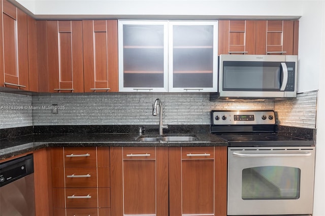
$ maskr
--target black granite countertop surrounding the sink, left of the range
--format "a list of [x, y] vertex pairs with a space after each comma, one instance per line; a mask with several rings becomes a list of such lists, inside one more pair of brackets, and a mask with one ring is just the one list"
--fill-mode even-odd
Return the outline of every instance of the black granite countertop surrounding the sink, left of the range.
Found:
[[[153, 135], [153, 134], [146, 134]], [[180, 136], [184, 134], [164, 134]], [[59, 133], [29, 134], [0, 140], [0, 160], [47, 147], [195, 147], [227, 146], [210, 133], [185, 134], [196, 141], [137, 141], [136, 133]]]

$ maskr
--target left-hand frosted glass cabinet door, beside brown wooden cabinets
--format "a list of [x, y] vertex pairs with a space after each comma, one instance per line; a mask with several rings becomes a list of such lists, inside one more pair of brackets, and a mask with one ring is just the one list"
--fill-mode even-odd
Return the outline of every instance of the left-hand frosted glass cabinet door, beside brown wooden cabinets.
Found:
[[167, 24], [119, 20], [119, 91], [168, 91]]

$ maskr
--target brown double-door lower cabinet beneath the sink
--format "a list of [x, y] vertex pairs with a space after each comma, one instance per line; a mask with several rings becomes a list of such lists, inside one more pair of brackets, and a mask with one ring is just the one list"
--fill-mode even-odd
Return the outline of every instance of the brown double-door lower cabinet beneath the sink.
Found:
[[226, 147], [111, 147], [112, 215], [226, 215]]

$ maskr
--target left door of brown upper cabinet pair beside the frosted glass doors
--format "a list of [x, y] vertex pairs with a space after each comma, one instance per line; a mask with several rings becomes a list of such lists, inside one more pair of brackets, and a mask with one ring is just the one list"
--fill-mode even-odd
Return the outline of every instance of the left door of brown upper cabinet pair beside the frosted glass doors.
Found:
[[83, 92], [81, 21], [47, 21], [49, 92]]

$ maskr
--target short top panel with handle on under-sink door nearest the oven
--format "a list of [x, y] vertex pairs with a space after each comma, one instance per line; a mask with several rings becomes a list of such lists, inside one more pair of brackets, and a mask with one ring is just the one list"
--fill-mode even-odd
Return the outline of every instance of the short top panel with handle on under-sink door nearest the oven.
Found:
[[182, 147], [182, 160], [213, 158], [214, 147]]

